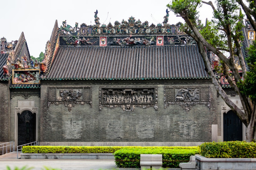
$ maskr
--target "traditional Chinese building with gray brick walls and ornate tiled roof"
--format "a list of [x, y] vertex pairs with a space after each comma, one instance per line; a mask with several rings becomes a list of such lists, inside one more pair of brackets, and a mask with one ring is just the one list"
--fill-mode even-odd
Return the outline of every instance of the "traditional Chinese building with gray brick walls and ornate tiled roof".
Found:
[[[179, 24], [167, 24], [168, 16], [156, 26], [135, 17], [101, 25], [98, 11], [93, 26], [56, 21], [41, 63], [30, 60], [23, 33], [18, 42], [1, 39], [0, 142], [198, 145], [225, 139], [223, 115], [230, 109], [196, 43]], [[209, 59], [218, 62], [210, 53]], [[242, 140], [239, 128], [234, 139]]]

